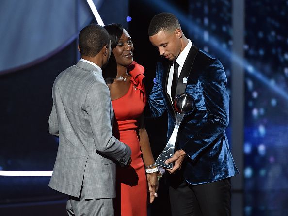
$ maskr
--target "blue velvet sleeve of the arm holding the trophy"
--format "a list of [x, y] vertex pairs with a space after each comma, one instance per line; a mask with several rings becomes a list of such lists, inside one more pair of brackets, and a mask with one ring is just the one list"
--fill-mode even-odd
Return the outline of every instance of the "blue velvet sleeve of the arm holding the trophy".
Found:
[[207, 121], [182, 148], [192, 160], [219, 139], [229, 123], [229, 95], [225, 88], [227, 79], [222, 64], [210, 59], [200, 76], [203, 89]]

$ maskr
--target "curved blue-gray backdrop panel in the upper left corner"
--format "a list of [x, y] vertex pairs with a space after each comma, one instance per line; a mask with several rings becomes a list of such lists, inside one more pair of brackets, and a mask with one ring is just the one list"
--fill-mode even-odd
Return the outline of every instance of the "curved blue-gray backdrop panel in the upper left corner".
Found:
[[[103, 0], [94, 0], [97, 8]], [[0, 71], [47, 58], [91, 21], [86, 0], [2, 0]]]

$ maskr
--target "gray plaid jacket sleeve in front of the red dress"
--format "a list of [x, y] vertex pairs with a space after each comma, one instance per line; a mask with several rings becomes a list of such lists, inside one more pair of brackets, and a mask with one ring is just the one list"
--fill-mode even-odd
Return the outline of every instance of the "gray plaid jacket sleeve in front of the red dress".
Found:
[[126, 165], [131, 150], [112, 135], [111, 106], [107, 85], [101, 82], [93, 84], [87, 94], [85, 111], [88, 113], [95, 148], [100, 153]]

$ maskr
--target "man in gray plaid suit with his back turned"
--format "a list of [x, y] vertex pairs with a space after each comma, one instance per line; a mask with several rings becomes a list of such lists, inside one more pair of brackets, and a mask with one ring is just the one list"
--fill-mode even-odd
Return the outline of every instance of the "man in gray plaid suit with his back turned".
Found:
[[80, 61], [58, 75], [52, 88], [49, 132], [59, 147], [49, 186], [69, 195], [69, 216], [112, 216], [115, 162], [131, 163], [130, 148], [112, 136], [113, 110], [101, 68], [111, 42], [97, 24], [80, 31]]

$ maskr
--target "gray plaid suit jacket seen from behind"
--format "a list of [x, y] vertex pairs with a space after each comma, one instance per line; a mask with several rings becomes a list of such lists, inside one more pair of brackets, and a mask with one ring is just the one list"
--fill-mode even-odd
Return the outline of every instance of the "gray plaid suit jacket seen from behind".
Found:
[[115, 197], [115, 161], [127, 164], [131, 150], [112, 136], [113, 109], [102, 72], [79, 61], [55, 79], [49, 132], [59, 146], [49, 186], [85, 199]]

